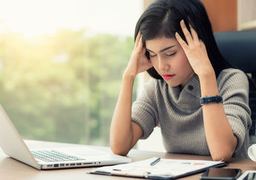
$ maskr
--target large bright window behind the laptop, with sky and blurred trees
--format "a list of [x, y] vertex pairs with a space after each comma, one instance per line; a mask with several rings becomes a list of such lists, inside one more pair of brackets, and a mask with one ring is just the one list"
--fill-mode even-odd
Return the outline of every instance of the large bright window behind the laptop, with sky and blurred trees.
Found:
[[23, 138], [109, 144], [142, 3], [0, 2], [0, 103]]

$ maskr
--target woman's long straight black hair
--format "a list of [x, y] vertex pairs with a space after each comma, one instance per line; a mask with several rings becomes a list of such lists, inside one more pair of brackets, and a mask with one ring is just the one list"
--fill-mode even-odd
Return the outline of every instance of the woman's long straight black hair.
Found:
[[[204, 5], [199, 0], [154, 1], [147, 7], [147, 10], [144, 11], [140, 19], [138, 19], [135, 28], [135, 39], [138, 35], [138, 31], [141, 30], [144, 46], [146, 40], [156, 39], [162, 36], [175, 38], [176, 32], [185, 40], [185, 36], [179, 24], [182, 19], [184, 19], [188, 30], [190, 30], [189, 24], [191, 24], [193, 29], [196, 30], [199, 39], [205, 43], [208, 57], [214, 68], [216, 77], [218, 77], [220, 71], [223, 69], [232, 67], [224, 60], [217, 48], [211, 30], [211, 22], [208, 19]], [[150, 59], [148, 52], [146, 52], [146, 56]], [[150, 68], [147, 72], [151, 77], [162, 79], [155, 68]]]

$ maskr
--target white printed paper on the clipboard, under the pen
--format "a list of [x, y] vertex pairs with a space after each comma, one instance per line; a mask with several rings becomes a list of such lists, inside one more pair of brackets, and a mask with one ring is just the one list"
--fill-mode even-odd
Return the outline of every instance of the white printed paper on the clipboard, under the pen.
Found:
[[108, 172], [121, 176], [147, 177], [148, 173], [150, 173], [150, 175], [160, 176], [179, 176], [196, 170], [202, 170], [205, 167], [211, 167], [223, 163], [221, 161], [161, 158], [161, 160], [156, 165], [150, 166], [150, 163], [154, 160], [156, 160], [156, 158], [149, 158], [144, 161], [136, 161], [129, 164], [120, 164], [111, 167], [100, 167], [97, 168], [97, 171]]

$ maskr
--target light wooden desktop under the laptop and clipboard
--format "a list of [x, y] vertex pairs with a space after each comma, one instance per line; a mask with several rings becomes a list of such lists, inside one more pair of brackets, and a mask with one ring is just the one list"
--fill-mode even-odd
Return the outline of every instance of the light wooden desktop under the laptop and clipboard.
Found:
[[[54, 143], [46, 141], [25, 141], [30, 149], [32, 148], [51, 148], [51, 147], [72, 147], [75, 144], [63, 144]], [[77, 145], [76, 145], [77, 146]], [[81, 145], [83, 146], [83, 145]], [[86, 146], [92, 147], [92, 146]], [[110, 152], [109, 147], [94, 147], [98, 150], [105, 150]], [[152, 151], [141, 151], [141, 150], [131, 150], [127, 155], [132, 158], [133, 161], [140, 161], [146, 158], [151, 158], [153, 156], [158, 156], [161, 158], [180, 158], [180, 159], [201, 159], [201, 160], [211, 160], [209, 156], [202, 155], [183, 155], [183, 154], [170, 154], [165, 152], [152, 152]], [[228, 168], [240, 168], [244, 171], [246, 170], [256, 170], [256, 163], [249, 159], [238, 159], [232, 158]], [[227, 168], [225, 167], [225, 168]], [[77, 169], [65, 169], [65, 170], [36, 170], [22, 162], [16, 161], [13, 158], [7, 157], [4, 152], [0, 149], [0, 179], [1, 180], [75, 180], [75, 179], [124, 179], [129, 180], [132, 178], [118, 177], [118, 176], [103, 176], [88, 174], [90, 170], [96, 167], [85, 167]], [[184, 179], [199, 179], [202, 173], [185, 177]]]

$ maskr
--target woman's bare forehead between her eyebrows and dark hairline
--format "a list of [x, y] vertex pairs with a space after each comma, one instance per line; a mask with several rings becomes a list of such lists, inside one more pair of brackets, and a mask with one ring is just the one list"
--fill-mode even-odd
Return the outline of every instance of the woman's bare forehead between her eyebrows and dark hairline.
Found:
[[151, 51], [160, 51], [163, 48], [173, 46], [173, 45], [179, 45], [179, 42], [175, 38], [156, 38], [156, 39], [150, 39], [145, 41], [146, 48]]

